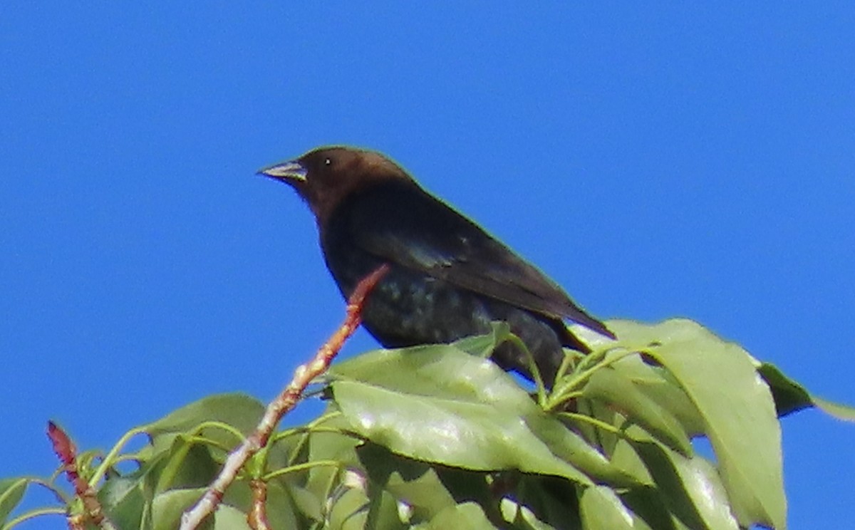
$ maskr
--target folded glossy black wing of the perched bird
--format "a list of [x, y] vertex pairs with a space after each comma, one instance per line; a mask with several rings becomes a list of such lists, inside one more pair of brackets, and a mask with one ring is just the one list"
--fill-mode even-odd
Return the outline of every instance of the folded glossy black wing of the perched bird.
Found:
[[416, 185], [376, 186], [352, 205], [352, 243], [369, 254], [614, 337], [540, 270]]

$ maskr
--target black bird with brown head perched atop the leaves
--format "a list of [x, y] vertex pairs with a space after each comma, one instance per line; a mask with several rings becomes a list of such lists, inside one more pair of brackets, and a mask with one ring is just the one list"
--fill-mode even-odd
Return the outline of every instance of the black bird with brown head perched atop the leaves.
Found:
[[[362, 312], [363, 326], [386, 348], [451, 343], [505, 321], [551, 387], [563, 347], [590, 352], [565, 319], [615, 339], [540, 269], [380, 152], [322, 146], [258, 174], [290, 185], [308, 204], [345, 299], [359, 280], [388, 266]], [[534, 380], [516, 344], [500, 344], [492, 360]]]

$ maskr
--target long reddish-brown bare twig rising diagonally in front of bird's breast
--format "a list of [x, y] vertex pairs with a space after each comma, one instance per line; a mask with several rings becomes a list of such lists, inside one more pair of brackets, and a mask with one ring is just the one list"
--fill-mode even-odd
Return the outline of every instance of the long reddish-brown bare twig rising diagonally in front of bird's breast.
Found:
[[192, 528], [198, 527], [205, 517], [214, 512], [216, 507], [221, 503], [227, 487], [237, 477], [240, 468], [243, 467], [251, 456], [255, 455], [267, 444], [268, 439], [270, 439], [282, 416], [286, 415], [297, 405], [300, 397], [303, 396], [303, 392], [306, 390], [306, 386], [309, 386], [315, 377], [327, 371], [327, 368], [329, 368], [335, 356], [338, 355], [341, 347], [345, 345], [345, 341], [357, 331], [357, 327], [362, 322], [361, 315], [365, 298], [368, 297], [369, 292], [374, 289], [374, 286], [377, 285], [377, 282], [383, 278], [388, 270], [388, 265], [380, 265], [373, 273], [360, 280], [357, 288], [347, 300], [347, 315], [345, 316], [344, 323], [327, 340], [327, 343], [321, 346], [321, 349], [315, 353], [315, 358], [310, 362], [301, 364], [294, 371], [291, 383], [286, 386], [285, 390], [273, 402], [268, 404], [262, 420], [258, 423], [258, 427], [256, 427], [255, 433], [252, 433], [244, 440], [243, 444], [239, 445], [237, 449], [229, 454], [220, 474], [208, 487], [208, 491], [204, 493], [192, 509], [188, 510], [181, 517], [180, 530], [192, 530]]

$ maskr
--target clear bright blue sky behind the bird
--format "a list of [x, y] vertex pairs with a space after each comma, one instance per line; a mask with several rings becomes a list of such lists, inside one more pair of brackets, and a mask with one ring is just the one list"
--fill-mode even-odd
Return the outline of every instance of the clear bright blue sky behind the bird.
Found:
[[[691, 317], [855, 403], [852, 27], [852, 3], [4, 3], [0, 476], [56, 465], [48, 419], [106, 447], [290, 379], [343, 303], [308, 209], [254, 173], [319, 144], [386, 152], [595, 315]], [[790, 527], [849, 525], [855, 426], [783, 434]]]

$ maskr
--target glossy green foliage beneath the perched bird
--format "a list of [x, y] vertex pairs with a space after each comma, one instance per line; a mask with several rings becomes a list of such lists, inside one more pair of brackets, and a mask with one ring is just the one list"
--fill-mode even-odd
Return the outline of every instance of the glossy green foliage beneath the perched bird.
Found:
[[[568, 351], [552, 391], [534, 396], [485, 359], [516, 340], [503, 324], [334, 364], [326, 412], [271, 439], [208, 526], [248, 528], [262, 484], [273, 528], [786, 527], [778, 416], [817, 405], [852, 420], [855, 409], [814, 399], [693, 321], [609, 327], [619, 342]], [[240, 394], [206, 397], [106, 456], [82, 453], [80, 475], [115, 527], [175, 528], [262, 410]], [[149, 443], [122, 454], [138, 434]], [[700, 437], [712, 458], [695, 450]], [[50, 480], [0, 480], [0, 524], [38, 513], [9, 519], [33, 484], [66, 504], [42, 513], [80, 509]]]

